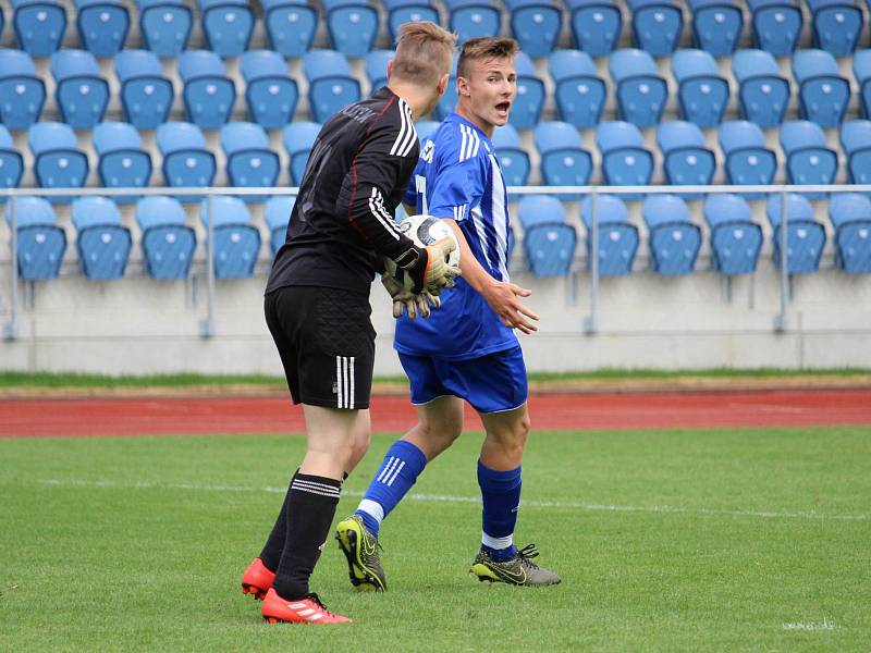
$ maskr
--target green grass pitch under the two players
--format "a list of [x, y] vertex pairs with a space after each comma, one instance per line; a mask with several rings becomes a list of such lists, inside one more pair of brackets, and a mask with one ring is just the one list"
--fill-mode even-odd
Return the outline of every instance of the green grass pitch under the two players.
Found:
[[536, 590], [467, 574], [479, 442], [384, 523], [390, 592], [355, 593], [329, 542], [312, 587], [356, 619], [329, 628], [238, 589], [302, 439], [0, 440], [0, 650], [871, 650], [871, 428], [536, 433], [517, 540], [564, 577]]

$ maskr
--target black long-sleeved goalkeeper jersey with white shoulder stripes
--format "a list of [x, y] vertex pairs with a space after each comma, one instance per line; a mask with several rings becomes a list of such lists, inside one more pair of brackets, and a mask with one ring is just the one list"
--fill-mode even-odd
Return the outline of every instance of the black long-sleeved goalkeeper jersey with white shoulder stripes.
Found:
[[266, 292], [289, 285], [369, 294], [379, 255], [414, 244], [393, 222], [419, 153], [408, 104], [384, 87], [318, 135]]

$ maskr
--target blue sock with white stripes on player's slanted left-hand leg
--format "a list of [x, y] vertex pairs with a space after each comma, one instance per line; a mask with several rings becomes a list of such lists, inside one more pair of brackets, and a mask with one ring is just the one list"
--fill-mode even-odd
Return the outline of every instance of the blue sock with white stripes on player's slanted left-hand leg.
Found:
[[402, 501], [426, 466], [427, 457], [414, 444], [405, 440], [393, 443], [354, 513], [363, 518], [366, 530], [378, 537], [381, 520]]

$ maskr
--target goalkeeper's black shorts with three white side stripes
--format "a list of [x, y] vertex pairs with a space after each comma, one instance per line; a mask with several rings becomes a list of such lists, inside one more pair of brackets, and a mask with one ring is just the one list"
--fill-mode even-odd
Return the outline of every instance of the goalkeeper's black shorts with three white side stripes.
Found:
[[294, 404], [369, 407], [375, 329], [366, 295], [287, 286], [266, 296], [265, 311]]

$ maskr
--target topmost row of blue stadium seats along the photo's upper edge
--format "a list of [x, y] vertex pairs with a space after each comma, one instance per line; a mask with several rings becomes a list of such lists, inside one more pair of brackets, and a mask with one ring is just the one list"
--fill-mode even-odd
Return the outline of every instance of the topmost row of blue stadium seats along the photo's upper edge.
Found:
[[[59, 49], [68, 15], [59, 0], [13, 0], [12, 23], [19, 46], [45, 57]], [[194, 12], [182, 0], [137, 0], [139, 30], [148, 49], [175, 57], [187, 47]], [[221, 57], [237, 57], [252, 40], [257, 9], [243, 0], [197, 0], [207, 47]], [[732, 53], [739, 44], [745, 12], [735, 0], [689, 0], [694, 44], [716, 57]], [[793, 52], [805, 24], [796, 0], [749, 0], [747, 22], [753, 42], [777, 57]], [[622, 3], [613, 0], [505, 0], [504, 8], [484, 0], [444, 0], [447, 21], [461, 42], [474, 36], [495, 36], [503, 17], [511, 34], [531, 57], [544, 57], [560, 42], [564, 28], [575, 47], [600, 57], [618, 44], [624, 28]], [[407, 21], [441, 23], [431, 0], [384, 0], [387, 25], [394, 38]], [[864, 17], [855, 0], [807, 0], [813, 45], [836, 57], [852, 52], [860, 40]], [[323, 0], [317, 7], [303, 1], [261, 0], [262, 23], [270, 49], [283, 57], [300, 57], [312, 44], [323, 21], [333, 48], [348, 57], [373, 49], [381, 27], [378, 5], [368, 0]], [[685, 17], [672, 0], [628, 0], [627, 23], [634, 44], [654, 57], [673, 52], [680, 42]], [[75, 0], [75, 22], [81, 45], [97, 57], [111, 57], [125, 44], [131, 27], [127, 7], [120, 0]], [[3, 20], [0, 12], [0, 30]]]

